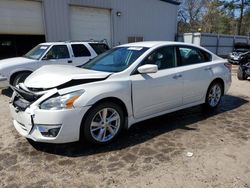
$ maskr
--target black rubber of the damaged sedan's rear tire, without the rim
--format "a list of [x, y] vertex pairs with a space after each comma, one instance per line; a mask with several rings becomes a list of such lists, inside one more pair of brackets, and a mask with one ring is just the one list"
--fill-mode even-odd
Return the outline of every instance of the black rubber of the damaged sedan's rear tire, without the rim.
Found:
[[[211, 92], [212, 92], [212, 89], [217, 86], [219, 89], [220, 89], [220, 97], [219, 97], [219, 100], [215, 103], [215, 105], [211, 105], [211, 101], [210, 101], [210, 95], [211, 95]], [[211, 110], [214, 110], [218, 107], [218, 105], [220, 104], [221, 102], [221, 97], [223, 95], [223, 86], [222, 84], [219, 82], [219, 81], [215, 81], [215, 82], [212, 82], [207, 90], [207, 94], [206, 94], [206, 102], [205, 104], [203, 105], [203, 107], [205, 108], [205, 110], [208, 110], [208, 111], [211, 111]]]

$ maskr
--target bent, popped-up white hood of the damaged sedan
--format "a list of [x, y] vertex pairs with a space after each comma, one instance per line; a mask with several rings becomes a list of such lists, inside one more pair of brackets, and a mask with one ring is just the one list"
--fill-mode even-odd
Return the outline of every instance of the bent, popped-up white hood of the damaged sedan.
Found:
[[[112, 73], [87, 70], [70, 65], [46, 65], [33, 72], [24, 82], [28, 88], [50, 89], [67, 84], [75, 85], [103, 80]], [[70, 85], [68, 85], [70, 86]]]

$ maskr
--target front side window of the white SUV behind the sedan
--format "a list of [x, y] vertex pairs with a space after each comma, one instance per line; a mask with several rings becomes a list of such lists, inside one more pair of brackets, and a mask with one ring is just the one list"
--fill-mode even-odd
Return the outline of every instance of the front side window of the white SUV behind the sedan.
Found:
[[66, 45], [54, 45], [44, 57], [44, 59], [66, 59], [66, 58], [70, 58], [69, 50]]

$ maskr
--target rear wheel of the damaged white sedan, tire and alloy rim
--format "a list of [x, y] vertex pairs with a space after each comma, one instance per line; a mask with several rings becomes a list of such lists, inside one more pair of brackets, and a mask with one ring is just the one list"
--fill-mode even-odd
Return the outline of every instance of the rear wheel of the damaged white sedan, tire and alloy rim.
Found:
[[222, 84], [218, 81], [213, 82], [207, 90], [206, 102], [204, 104], [205, 109], [206, 110], [216, 109], [221, 102], [222, 94], [223, 94]]

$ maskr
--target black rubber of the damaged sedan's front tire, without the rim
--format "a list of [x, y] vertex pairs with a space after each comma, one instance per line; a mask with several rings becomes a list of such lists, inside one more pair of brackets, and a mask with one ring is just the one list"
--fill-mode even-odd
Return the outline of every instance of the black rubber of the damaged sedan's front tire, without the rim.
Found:
[[[92, 120], [96, 118], [98, 112], [106, 108], [113, 109], [119, 114], [120, 126], [117, 129], [117, 132], [112, 139], [108, 141], [98, 141], [91, 134], [91, 123], [92, 123]], [[125, 125], [125, 115], [124, 115], [122, 108], [113, 102], [103, 102], [103, 103], [97, 104], [96, 106], [93, 106], [89, 110], [89, 112], [86, 114], [86, 117], [83, 119], [83, 122], [81, 125], [80, 139], [81, 141], [87, 141], [91, 144], [98, 144], [98, 145], [108, 144], [114, 141], [115, 139], [117, 139], [118, 135], [121, 133], [122, 129], [124, 128], [124, 125]]]

